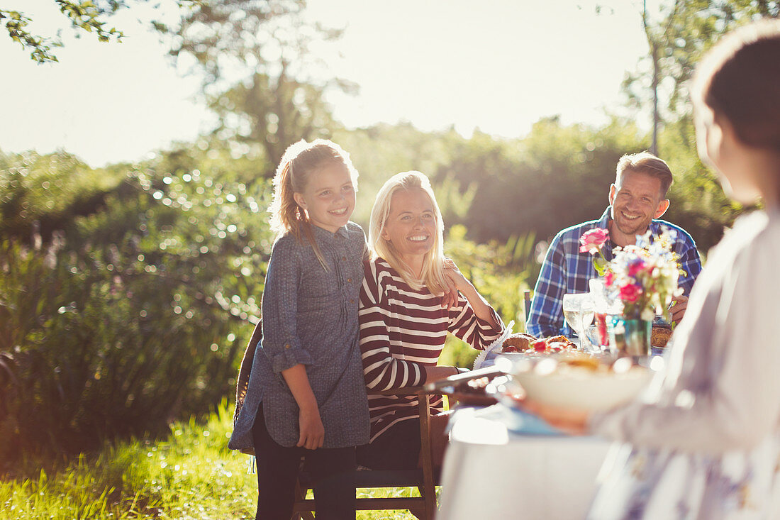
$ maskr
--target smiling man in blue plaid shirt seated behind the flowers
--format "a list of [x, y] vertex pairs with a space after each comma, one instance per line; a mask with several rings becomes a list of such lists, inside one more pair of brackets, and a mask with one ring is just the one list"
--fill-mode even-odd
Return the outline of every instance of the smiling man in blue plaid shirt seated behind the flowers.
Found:
[[563, 319], [563, 295], [586, 293], [588, 280], [597, 277], [593, 255], [580, 252], [582, 234], [597, 227], [609, 231], [609, 240], [601, 249], [608, 261], [612, 259], [612, 248], [636, 244], [636, 235], [643, 235], [648, 229], [654, 237], [661, 233], [661, 226], [677, 233], [672, 249], [679, 255], [680, 269], [686, 274], [679, 278], [683, 296], [675, 298], [671, 310], [674, 322], [683, 317], [693, 281], [701, 271], [701, 260], [690, 234], [658, 220], [669, 207], [666, 193], [671, 185], [672, 172], [666, 162], [650, 152], [620, 158], [615, 183], [609, 187], [609, 207], [601, 219], [566, 228], [552, 240], [534, 288], [527, 322], [529, 333], [537, 337], [570, 334]]

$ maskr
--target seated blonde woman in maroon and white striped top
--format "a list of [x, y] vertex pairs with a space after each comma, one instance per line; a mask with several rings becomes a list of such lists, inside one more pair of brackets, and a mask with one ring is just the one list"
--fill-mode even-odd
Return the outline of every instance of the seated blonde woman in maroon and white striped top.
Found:
[[[369, 247], [360, 291], [360, 351], [371, 390], [420, 386], [459, 372], [437, 366], [447, 333], [483, 349], [502, 333], [495, 310], [449, 260], [444, 223], [431, 183], [420, 172], [392, 176], [371, 211]], [[445, 292], [459, 291], [448, 308]], [[442, 411], [441, 398], [432, 402]], [[371, 443], [358, 463], [377, 469], [417, 466], [417, 397], [369, 396]], [[442, 444], [443, 446], [443, 444]]]

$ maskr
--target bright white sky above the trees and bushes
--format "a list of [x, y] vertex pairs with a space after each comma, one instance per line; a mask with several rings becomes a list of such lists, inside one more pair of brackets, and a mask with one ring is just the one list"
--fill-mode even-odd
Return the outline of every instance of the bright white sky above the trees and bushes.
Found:
[[[54, 0], [2, 4], [33, 16], [34, 30], [64, 27]], [[503, 137], [521, 137], [545, 116], [601, 124], [605, 111], [619, 112], [624, 74], [647, 51], [640, 8], [637, 0], [309, 0], [314, 19], [346, 27], [341, 57], [327, 55], [333, 75], [360, 86], [356, 96], [329, 98], [346, 126], [406, 120]], [[0, 35], [0, 149], [64, 148], [103, 166], [209, 130], [197, 77], [172, 66], [139, 16], [154, 17], [142, 4], [110, 21], [126, 34], [121, 44], [64, 31], [59, 62], [45, 66]]]

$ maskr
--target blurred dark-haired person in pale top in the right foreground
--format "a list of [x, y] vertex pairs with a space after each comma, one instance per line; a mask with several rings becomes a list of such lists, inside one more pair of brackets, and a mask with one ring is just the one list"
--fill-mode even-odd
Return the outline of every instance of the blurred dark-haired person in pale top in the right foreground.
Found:
[[625, 442], [590, 518], [780, 518], [780, 22], [725, 37], [693, 84], [697, 142], [729, 196], [765, 211], [711, 253], [643, 401], [549, 422]]

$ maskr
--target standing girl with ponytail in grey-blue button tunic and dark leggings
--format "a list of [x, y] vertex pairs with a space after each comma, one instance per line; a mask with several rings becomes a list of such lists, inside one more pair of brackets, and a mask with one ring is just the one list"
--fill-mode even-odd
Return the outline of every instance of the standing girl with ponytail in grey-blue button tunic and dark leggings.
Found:
[[357, 299], [366, 238], [349, 222], [357, 172], [337, 144], [299, 141], [274, 178], [262, 340], [232, 449], [254, 447], [257, 518], [289, 520], [303, 456], [317, 518], [355, 518], [355, 446], [368, 441]]

